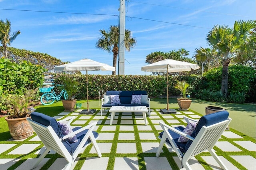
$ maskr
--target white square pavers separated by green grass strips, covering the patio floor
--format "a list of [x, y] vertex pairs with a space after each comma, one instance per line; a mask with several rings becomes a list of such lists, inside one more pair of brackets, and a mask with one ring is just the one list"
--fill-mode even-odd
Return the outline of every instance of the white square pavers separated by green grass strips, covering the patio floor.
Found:
[[[74, 170], [77, 170], [77, 164], [82, 164], [78, 170], [182, 169], [178, 156], [170, 147], [165, 146], [160, 157], [155, 156], [160, 142], [158, 135], [162, 131], [159, 122], [163, 121], [172, 127], [186, 127], [184, 116], [193, 119], [200, 119], [201, 116], [192, 111], [162, 114], [159, 109], [153, 109], [151, 117], [147, 115], [148, 126], [144, 125], [142, 113], [132, 112], [117, 113], [113, 125], [109, 125], [110, 112], [108, 110], [103, 111], [102, 116], [100, 116], [100, 110], [97, 110], [94, 115], [80, 115], [79, 111], [62, 112], [56, 115], [56, 118], [75, 117], [71, 124], [72, 127], [83, 127], [97, 121], [94, 130], [99, 133], [97, 143], [102, 152], [102, 157], [98, 158], [94, 147], [89, 145], [82, 150], [76, 162], [72, 164], [71, 169]], [[8, 168], [10, 170], [27, 170], [32, 168], [41, 154], [42, 147], [44, 146], [36, 134], [18, 141], [13, 139], [0, 141], [0, 170], [7, 170]], [[249, 170], [256, 168], [255, 140], [232, 129], [223, 133], [214, 150], [228, 169]], [[250, 154], [245, 154], [244, 151]], [[237, 163], [232, 164], [231, 162]], [[65, 164], [66, 160], [62, 156], [50, 151], [35, 169], [60, 170], [64, 168]], [[220, 169], [218, 163], [207, 151], [196, 156], [196, 158], [190, 159], [189, 164], [192, 169], [209, 169], [210, 167]]]

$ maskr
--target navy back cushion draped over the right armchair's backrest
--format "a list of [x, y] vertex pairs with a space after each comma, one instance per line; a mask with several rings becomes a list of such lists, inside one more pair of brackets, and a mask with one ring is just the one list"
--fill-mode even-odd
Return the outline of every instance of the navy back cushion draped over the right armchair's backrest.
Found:
[[[221, 121], [228, 119], [228, 116], [229, 116], [228, 111], [219, 111], [216, 113], [211, 113], [211, 114], [202, 116], [196, 125], [195, 131], [191, 134], [191, 137], [195, 138], [203, 126], [210, 126], [215, 123], [219, 123]], [[188, 150], [192, 142], [193, 141], [188, 140], [185, 146], [185, 150]]]

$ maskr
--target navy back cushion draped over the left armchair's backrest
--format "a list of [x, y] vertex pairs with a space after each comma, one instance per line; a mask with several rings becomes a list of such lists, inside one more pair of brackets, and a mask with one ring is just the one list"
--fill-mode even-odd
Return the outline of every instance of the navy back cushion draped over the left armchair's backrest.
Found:
[[62, 137], [62, 131], [61, 131], [60, 125], [58, 124], [56, 119], [54, 119], [53, 117], [50, 117], [43, 113], [38, 113], [36, 111], [32, 112], [30, 116], [33, 121], [36, 121], [42, 125], [45, 125], [46, 127], [50, 125], [52, 129], [55, 131], [55, 133], [58, 135], [58, 137], [59, 138]]

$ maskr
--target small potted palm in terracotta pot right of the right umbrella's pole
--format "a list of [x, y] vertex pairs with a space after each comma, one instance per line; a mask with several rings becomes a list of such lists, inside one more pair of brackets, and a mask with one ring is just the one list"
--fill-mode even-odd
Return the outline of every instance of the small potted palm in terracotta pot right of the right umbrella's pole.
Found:
[[192, 100], [186, 97], [189, 86], [190, 85], [185, 81], [176, 80], [176, 85], [174, 86], [174, 88], [177, 88], [178, 90], [180, 90], [183, 97], [183, 98], [177, 98], [178, 105], [180, 106], [179, 110], [188, 110], [188, 108], [190, 107]]

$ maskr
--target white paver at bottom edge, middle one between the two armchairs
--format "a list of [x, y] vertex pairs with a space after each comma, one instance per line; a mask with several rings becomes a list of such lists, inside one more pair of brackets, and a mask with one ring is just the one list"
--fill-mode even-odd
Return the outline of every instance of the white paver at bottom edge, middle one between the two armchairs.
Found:
[[139, 170], [138, 158], [116, 158], [114, 170]]

